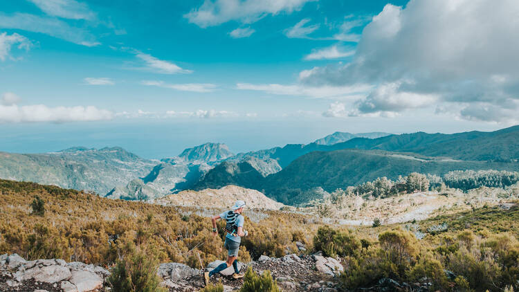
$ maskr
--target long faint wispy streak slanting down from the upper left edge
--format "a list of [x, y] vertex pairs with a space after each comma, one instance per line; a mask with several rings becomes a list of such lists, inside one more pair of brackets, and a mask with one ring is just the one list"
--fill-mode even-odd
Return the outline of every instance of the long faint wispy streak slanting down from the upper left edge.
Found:
[[14, 28], [34, 33], [44, 33], [82, 46], [100, 45], [100, 42], [83, 28], [69, 26], [69, 24], [60, 19], [39, 17], [26, 13], [5, 15], [0, 12], [0, 28]]

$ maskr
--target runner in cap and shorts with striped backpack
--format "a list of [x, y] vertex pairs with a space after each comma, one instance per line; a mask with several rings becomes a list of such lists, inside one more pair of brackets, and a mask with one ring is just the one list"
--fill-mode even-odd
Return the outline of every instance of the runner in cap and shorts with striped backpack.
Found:
[[242, 241], [242, 237], [247, 236], [248, 232], [244, 231], [244, 217], [242, 212], [244, 212], [245, 202], [244, 201], [236, 201], [233, 206], [233, 210], [229, 210], [221, 213], [215, 217], [212, 217], [212, 233], [213, 235], [217, 235], [217, 226], [216, 221], [218, 219], [225, 219], [226, 222], [226, 241], [224, 243], [224, 247], [228, 250], [227, 261], [223, 264], [217, 266], [214, 270], [210, 272], [203, 273], [203, 280], [206, 282], [206, 285], [209, 283], [209, 278], [220, 271], [224, 271], [226, 268], [233, 265], [235, 268], [235, 273], [233, 277], [235, 279], [239, 279], [243, 277], [243, 274], [240, 274], [238, 271], [238, 261], [236, 260], [238, 257], [239, 244]]

